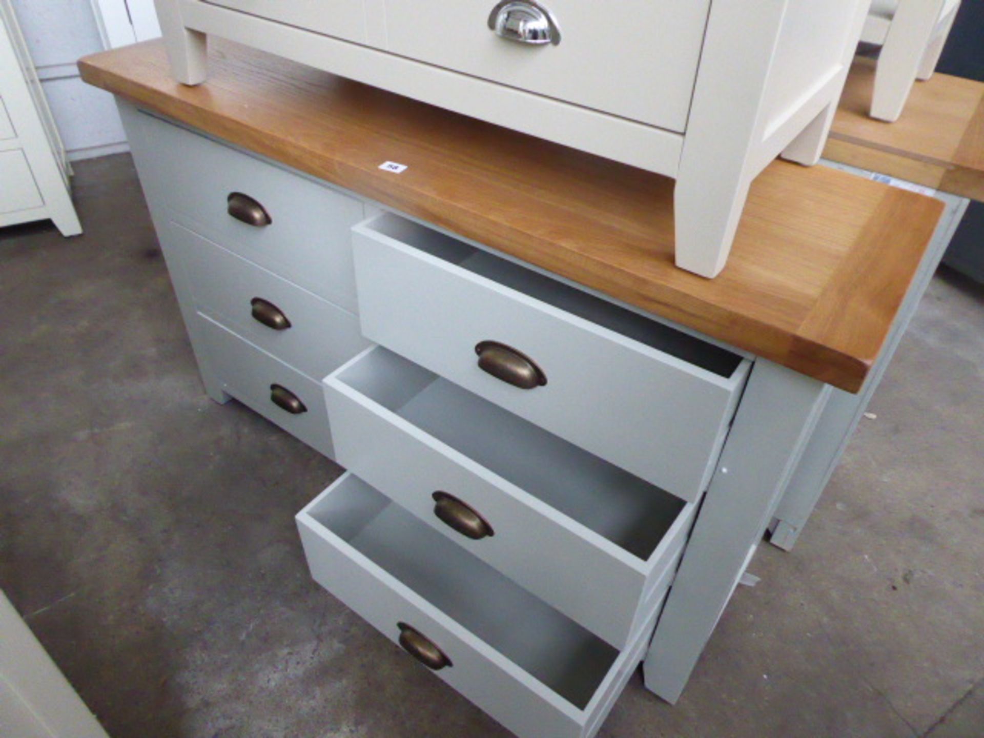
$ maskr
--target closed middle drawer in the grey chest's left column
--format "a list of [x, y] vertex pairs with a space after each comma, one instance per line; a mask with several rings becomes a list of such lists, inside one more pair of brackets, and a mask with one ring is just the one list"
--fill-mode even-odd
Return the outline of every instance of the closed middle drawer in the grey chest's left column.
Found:
[[369, 345], [359, 321], [317, 297], [169, 223], [196, 307], [218, 323], [320, 382]]

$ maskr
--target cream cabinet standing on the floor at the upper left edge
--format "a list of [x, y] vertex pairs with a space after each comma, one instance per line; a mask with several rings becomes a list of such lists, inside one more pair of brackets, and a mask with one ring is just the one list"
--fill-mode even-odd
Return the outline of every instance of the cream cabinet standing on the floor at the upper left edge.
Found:
[[50, 218], [78, 235], [71, 169], [9, 0], [0, 21], [0, 226]]

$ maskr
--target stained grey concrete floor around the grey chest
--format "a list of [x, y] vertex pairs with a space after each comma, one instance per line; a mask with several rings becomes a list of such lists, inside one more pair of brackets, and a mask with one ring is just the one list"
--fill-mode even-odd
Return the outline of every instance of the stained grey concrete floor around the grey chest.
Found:
[[[131, 161], [0, 233], [0, 586], [113, 738], [506, 736], [308, 577], [339, 473], [199, 384]], [[938, 275], [797, 548], [607, 738], [984, 736], [984, 291]]]

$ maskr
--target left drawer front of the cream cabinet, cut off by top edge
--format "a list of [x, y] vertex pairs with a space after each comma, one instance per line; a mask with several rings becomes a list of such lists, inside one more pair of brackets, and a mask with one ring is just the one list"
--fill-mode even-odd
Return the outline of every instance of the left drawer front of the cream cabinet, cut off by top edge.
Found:
[[[207, 0], [212, 5], [269, 18], [347, 41], [366, 40], [366, 14], [362, 0]], [[374, 19], [380, 25], [383, 19]]]

